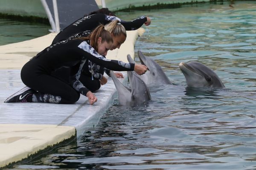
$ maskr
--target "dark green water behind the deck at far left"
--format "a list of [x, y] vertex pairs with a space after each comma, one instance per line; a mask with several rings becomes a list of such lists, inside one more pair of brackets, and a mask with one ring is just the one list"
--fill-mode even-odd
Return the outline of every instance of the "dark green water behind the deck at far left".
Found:
[[49, 34], [50, 25], [0, 18], [0, 45], [31, 40]]

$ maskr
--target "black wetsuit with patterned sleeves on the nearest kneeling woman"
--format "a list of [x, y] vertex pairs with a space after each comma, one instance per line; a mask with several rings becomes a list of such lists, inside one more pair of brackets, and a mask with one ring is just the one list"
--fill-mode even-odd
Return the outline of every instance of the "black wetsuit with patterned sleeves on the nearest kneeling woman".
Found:
[[[57, 42], [38, 53], [21, 69], [23, 83], [36, 92], [32, 102], [74, 103], [80, 94], [86, 96], [88, 89], [79, 81], [81, 69], [90, 61], [115, 71], [132, 71], [134, 64], [105, 59], [84, 40]], [[70, 84], [52, 76], [52, 71], [61, 67], [78, 65]], [[79, 94], [80, 93], [80, 94]], [[31, 101], [28, 101], [31, 102]]]

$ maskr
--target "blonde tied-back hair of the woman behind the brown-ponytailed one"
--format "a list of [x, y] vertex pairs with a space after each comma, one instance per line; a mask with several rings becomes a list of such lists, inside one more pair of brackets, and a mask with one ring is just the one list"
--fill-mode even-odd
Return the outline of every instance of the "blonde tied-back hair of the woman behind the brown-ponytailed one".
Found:
[[105, 25], [105, 30], [108, 30], [110, 33], [112, 33], [114, 37], [120, 36], [122, 34], [127, 37], [125, 27], [119, 23], [119, 20], [113, 20], [111, 23]]

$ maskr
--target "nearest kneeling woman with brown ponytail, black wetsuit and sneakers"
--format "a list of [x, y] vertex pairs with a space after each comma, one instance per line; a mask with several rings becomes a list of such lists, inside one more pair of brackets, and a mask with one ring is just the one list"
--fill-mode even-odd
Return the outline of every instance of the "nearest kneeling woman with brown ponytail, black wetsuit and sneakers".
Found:
[[[90, 42], [89, 42], [90, 40]], [[88, 44], [89, 43], [89, 44]], [[38, 53], [21, 69], [21, 80], [27, 86], [6, 99], [5, 102], [76, 102], [80, 94], [87, 96], [91, 105], [97, 101], [96, 96], [79, 81], [82, 64], [90, 60], [97, 65], [115, 71], [136, 71], [144, 74], [147, 67], [139, 64], [109, 60], [106, 55], [113, 44], [111, 34], [98, 26], [87, 38], [56, 42]], [[96, 49], [94, 49], [94, 48]], [[99, 51], [97, 53], [96, 51]], [[80, 63], [71, 83], [68, 84], [51, 75], [52, 71], [61, 67], [72, 67]]]

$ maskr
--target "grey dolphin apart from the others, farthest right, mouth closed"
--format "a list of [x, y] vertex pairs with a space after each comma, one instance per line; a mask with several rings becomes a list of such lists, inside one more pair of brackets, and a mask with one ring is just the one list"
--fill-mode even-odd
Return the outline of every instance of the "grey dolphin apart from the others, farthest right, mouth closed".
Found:
[[204, 64], [196, 61], [180, 62], [179, 68], [186, 78], [186, 84], [191, 88], [224, 88], [221, 79]]

